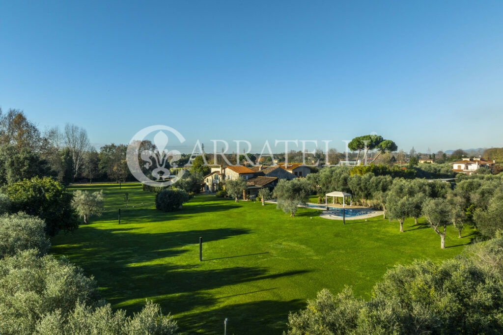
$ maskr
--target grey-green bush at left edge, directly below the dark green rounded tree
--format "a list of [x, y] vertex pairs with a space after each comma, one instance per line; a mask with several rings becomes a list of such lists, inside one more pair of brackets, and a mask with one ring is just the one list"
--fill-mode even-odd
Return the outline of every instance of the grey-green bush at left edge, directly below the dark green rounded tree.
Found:
[[47, 254], [51, 243], [44, 229], [44, 220], [22, 212], [0, 216], [0, 258], [27, 249], [38, 249], [41, 255]]

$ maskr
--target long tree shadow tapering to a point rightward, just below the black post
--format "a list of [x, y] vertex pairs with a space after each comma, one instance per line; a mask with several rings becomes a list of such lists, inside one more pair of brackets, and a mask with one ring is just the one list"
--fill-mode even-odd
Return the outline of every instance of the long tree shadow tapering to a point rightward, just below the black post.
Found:
[[[198, 266], [176, 265], [141, 265], [121, 270], [121, 276], [127, 278], [122, 285], [114, 285], [104, 290], [105, 296], [114, 307], [127, 307], [128, 313], [139, 311], [145, 298], [160, 304], [163, 310], [173, 314], [191, 312], [199, 307], [210, 307], [232, 296], [246, 295], [253, 299], [257, 290], [242, 294], [214, 297], [208, 291], [242, 283], [277, 279], [302, 275], [308, 270], [270, 273], [266, 268], [229, 267], [223, 269], [200, 269]], [[240, 292], [240, 291], [237, 291]], [[249, 295], [249, 296], [248, 296]], [[257, 311], [259, 313], [259, 311]], [[189, 331], [194, 329], [182, 329]], [[192, 331], [189, 331], [192, 333]]]

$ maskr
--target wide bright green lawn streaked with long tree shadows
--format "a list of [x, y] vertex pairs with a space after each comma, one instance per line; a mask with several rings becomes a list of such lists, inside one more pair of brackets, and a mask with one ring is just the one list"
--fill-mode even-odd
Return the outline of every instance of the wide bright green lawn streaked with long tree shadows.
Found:
[[154, 194], [138, 185], [80, 189], [103, 189], [106, 212], [54, 237], [52, 254], [93, 275], [114, 307], [135, 312], [151, 299], [186, 333], [221, 334], [227, 317], [228, 333], [279, 334], [288, 312], [303, 308], [320, 289], [339, 292], [349, 285], [369, 297], [386, 269], [413, 259], [452, 258], [472, 237], [467, 229], [459, 239], [449, 227], [442, 250], [440, 237], [411, 219], [400, 233], [396, 221], [380, 217], [343, 225], [312, 209], [300, 208], [291, 218], [274, 204], [206, 195], [163, 213], [154, 209]]

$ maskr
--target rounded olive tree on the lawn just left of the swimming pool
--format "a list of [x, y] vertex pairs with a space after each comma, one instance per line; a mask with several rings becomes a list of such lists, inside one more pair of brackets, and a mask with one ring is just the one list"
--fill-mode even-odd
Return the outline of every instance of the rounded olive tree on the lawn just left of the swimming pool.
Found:
[[311, 191], [310, 183], [304, 178], [291, 181], [281, 179], [274, 188], [273, 195], [278, 202], [278, 208], [285, 213], [290, 212], [290, 216], [295, 216], [298, 205], [307, 203]]

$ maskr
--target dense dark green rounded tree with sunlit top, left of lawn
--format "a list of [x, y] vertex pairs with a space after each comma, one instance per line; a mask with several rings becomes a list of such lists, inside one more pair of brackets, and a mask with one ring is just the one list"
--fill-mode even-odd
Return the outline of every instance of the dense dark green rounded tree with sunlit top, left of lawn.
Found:
[[59, 230], [73, 230], [78, 227], [71, 206], [72, 195], [64, 186], [49, 177], [34, 177], [10, 185], [7, 195], [12, 203], [12, 211], [24, 211], [45, 220], [45, 231], [49, 236]]

